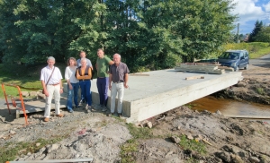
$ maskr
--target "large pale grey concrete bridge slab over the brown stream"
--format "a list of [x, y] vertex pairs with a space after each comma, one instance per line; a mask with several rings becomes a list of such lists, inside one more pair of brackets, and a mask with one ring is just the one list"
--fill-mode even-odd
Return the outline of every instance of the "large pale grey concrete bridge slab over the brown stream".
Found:
[[[175, 107], [200, 99], [216, 91], [228, 88], [242, 79], [241, 72], [223, 74], [183, 73], [173, 69], [146, 72], [149, 76], [130, 76], [129, 89], [125, 89], [123, 115], [127, 122], [138, 122], [164, 113]], [[186, 77], [196, 75], [204, 79], [186, 81]], [[92, 99], [99, 103], [96, 80], [91, 81]], [[109, 96], [111, 92], [108, 92]], [[110, 108], [110, 101], [108, 106]]]

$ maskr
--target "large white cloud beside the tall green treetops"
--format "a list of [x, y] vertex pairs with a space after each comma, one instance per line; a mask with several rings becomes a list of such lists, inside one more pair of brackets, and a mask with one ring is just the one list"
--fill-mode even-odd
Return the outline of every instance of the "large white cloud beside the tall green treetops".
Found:
[[247, 21], [257, 21], [266, 18], [266, 13], [263, 11], [262, 6], [256, 6], [257, 0], [234, 0], [233, 3], [237, 3], [232, 14], [238, 14], [238, 21], [245, 25]]

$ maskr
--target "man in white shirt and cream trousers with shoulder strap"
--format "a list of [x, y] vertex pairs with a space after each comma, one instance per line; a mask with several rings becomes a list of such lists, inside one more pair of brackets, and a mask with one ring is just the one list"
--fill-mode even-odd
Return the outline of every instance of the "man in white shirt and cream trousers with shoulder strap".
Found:
[[53, 56], [49, 56], [47, 59], [48, 65], [41, 70], [40, 81], [44, 90], [44, 94], [46, 96], [46, 105], [45, 105], [45, 122], [49, 121], [50, 115], [50, 104], [52, 96], [54, 95], [55, 102], [55, 113], [56, 116], [62, 117], [60, 114], [60, 93], [63, 93], [62, 86], [62, 74], [58, 67], [55, 67], [55, 58]]

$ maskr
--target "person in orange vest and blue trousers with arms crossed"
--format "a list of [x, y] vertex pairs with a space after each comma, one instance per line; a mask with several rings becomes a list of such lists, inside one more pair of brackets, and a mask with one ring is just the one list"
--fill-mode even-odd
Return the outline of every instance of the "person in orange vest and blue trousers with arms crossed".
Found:
[[90, 66], [86, 65], [86, 58], [81, 58], [81, 66], [76, 69], [76, 79], [79, 80], [80, 88], [81, 88], [81, 101], [86, 101], [86, 109], [91, 110], [92, 106], [92, 95], [91, 95], [91, 82], [92, 78], [92, 69]]

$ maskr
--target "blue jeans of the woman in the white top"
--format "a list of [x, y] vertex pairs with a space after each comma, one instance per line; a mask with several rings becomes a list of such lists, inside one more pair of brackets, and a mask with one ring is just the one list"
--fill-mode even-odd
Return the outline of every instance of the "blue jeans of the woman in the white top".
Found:
[[71, 83], [72, 90], [69, 90], [69, 86], [67, 84], [67, 109], [72, 109], [72, 99], [74, 99], [74, 104], [77, 107], [77, 90], [79, 87], [78, 82], [77, 83]]

